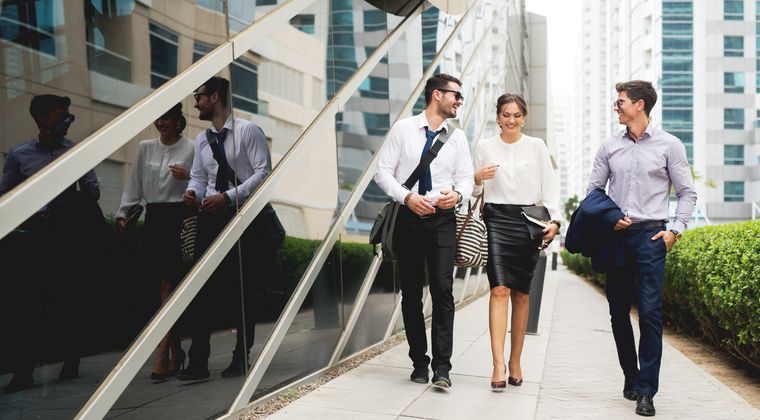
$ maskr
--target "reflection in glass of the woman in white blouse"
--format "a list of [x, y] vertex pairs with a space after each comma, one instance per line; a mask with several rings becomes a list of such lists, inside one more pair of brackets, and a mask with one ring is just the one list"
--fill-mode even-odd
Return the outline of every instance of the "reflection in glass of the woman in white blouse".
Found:
[[[126, 231], [125, 215], [130, 207], [145, 200], [144, 243], [151, 261], [143, 266], [149, 267], [149, 274], [160, 284], [163, 303], [182, 280], [186, 269], [180, 255], [179, 234], [182, 219], [188, 211], [182, 203], [182, 194], [190, 179], [194, 144], [182, 137], [187, 121], [182, 116], [181, 103], [160, 116], [154, 124], [160, 137], [140, 142], [132, 174], [121, 195], [116, 223], [119, 231]], [[156, 380], [166, 379], [175, 375], [184, 361], [185, 353], [179, 337], [170, 331], [158, 346], [150, 376]]]

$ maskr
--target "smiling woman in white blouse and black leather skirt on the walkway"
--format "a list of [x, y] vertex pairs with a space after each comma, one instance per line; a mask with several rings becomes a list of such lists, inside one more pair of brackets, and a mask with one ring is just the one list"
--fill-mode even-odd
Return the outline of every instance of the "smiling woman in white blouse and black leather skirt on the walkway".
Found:
[[[525, 100], [505, 94], [496, 103], [501, 133], [475, 146], [474, 196], [485, 194], [483, 216], [488, 228], [488, 281], [491, 285], [489, 328], [493, 373], [491, 389], [502, 391], [507, 382], [521, 385], [520, 355], [528, 323], [528, 293], [540, 250], [554, 239], [559, 222], [551, 220], [541, 238], [532, 240], [522, 207], [539, 205], [557, 218], [559, 187], [544, 141], [521, 129], [528, 113]], [[512, 300], [512, 336], [509, 363], [504, 362], [507, 310]], [[507, 378], [507, 369], [509, 375]]]

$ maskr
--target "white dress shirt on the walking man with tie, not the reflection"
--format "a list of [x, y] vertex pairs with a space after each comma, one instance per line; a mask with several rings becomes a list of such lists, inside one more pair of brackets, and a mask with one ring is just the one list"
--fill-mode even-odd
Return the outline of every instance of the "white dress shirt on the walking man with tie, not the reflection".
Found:
[[[424, 113], [393, 124], [388, 133], [388, 139], [385, 141], [386, 144], [380, 151], [375, 182], [380, 189], [399, 203], [403, 203], [410, 192], [402, 184], [420, 163], [422, 149], [427, 140], [426, 126], [430, 127]], [[472, 194], [472, 161], [467, 138], [462, 130], [450, 127], [445, 121], [441, 128], [446, 128], [447, 131], [453, 130], [453, 132], [430, 164], [433, 189], [425, 196], [433, 200], [433, 205], [441, 191], [452, 189], [459, 191], [463, 201], [468, 200]], [[432, 130], [433, 127], [430, 129]], [[418, 184], [419, 181], [414, 184], [412, 192], [417, 192]]]

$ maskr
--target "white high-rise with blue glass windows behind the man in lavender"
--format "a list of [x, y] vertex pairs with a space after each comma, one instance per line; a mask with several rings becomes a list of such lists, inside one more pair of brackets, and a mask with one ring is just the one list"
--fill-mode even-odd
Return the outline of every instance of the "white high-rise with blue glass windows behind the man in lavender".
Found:
[[[597, 63], [586, 58], [593, 53], [583, 55], [584, 92], [606, 92], [601, 105], [592, 98], [586, 102], [592, 125], [606, 126], [604, 136], [620, 129], [610, 118], [616, 82], [652, 81], [658, 91], [652, 122], [686, 146], [699, 194], [699, 222], [705, 216], [713, 223], [750, 218], [752, 203], [760, 201], [760, 67], [754, 60], [760, 55], [751, 48], [760, 39], [758, 3], [586, 0], [584, 8], [584, 47], [593, 52], [606, 43], [609, 52], [601, 62], [607, 76], [598, 78]], [[607, 25], [609, 39], [596, 37], [587, 25]], [[599, 134], [585, 121], [584, 146]], [[584, 149], [584, 162], [594, 153]]]

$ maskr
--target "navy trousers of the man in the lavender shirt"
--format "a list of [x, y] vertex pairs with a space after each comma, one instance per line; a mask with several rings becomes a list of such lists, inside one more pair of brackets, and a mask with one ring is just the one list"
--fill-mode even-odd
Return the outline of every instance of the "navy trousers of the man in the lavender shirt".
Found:
[[[625, 267], [607, 271], [607, 301], [612, 334], [623, 374], [639, 394], [657, 393], [662, 360], [662, 285], [665, 242], [651, 238], [662, 228], [623, 231]], [[634, 281], [635, 280], [635, 281]], [[631, 299], [636, 293], [639, 312], [638, 363], [631, 327]]]

